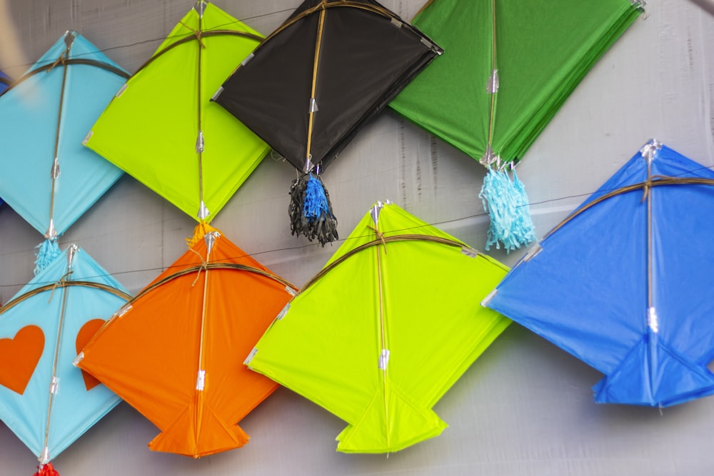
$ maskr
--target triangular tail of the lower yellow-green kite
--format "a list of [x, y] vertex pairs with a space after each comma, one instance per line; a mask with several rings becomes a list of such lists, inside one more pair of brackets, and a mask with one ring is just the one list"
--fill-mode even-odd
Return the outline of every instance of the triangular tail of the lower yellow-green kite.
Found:
[[441, 435], [447, 426], [431, 408], [418, 407], [388, 383], [387, 392], [377, 392], [356, 423], [338, 435], [337, 450], [396, 452]]

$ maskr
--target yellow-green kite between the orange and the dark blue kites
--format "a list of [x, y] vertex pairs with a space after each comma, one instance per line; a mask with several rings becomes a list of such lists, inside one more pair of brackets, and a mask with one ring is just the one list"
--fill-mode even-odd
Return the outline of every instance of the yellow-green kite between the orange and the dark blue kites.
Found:
[[511, 323], [479, 305], [507, 270], [377, 203], [246, 365], [346, 420], [338, 451], [401, 450], [442, 432], [431, 407]]

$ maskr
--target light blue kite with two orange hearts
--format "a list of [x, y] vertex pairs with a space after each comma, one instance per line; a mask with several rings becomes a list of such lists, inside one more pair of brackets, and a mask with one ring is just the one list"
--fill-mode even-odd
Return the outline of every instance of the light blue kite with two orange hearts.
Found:
[[121, 399], [74, 368], [78, 349], [131, 296], [76, 245], [61, 252], [0, 308], [0, 419], [50, 460]]

